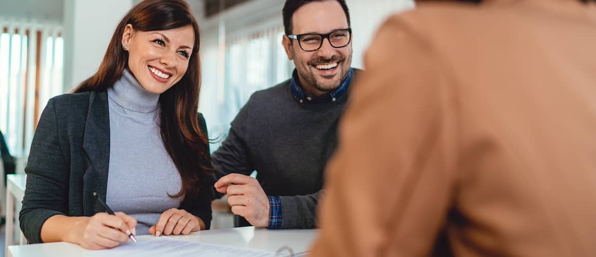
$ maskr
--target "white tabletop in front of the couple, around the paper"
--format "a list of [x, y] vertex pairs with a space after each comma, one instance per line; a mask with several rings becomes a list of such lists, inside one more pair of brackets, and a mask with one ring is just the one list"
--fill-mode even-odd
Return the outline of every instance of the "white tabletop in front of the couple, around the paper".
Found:
[[[176, 240], [198, 241], [201, 243], [241, 247], [244, 249], [277, 252], [284, 246], [290, 247], [296, 256], [301, 256], [310, 248], [318, 230], [267, 230], [265, 228], [241, 227], [204, 230], [188, 236], [170, 236]], [[139, 236], [153, 237], [151, 235]], [[85, 249], [71, 243], [44, 243], [21, 246], [8, 246], [7, 257], [79, 257]], [[290, 256], [290, 252], [280, 252], [279, 256]], [[167, 256], [164, 256], [167, 257]]]

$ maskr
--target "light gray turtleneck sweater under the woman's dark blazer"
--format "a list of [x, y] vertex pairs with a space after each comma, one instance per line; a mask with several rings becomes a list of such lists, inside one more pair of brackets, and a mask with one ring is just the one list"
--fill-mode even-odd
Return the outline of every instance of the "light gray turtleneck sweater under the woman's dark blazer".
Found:
[[110, 166], [106, 203], [138, 221], [136, 234], [148, 234], [159, 216], [178, 208], [182, 180], [163, 146], [159, 128], [159, 94], [146, 91], [125, 69], [108, 88]]

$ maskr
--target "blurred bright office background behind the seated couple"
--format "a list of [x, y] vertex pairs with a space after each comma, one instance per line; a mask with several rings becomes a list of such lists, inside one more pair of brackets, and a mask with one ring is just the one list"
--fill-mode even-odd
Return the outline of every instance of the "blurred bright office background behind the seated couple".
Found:
[[[7, 145], [2, 154], [15, 157], [17, 174], [23, 173], [49, 98], [71, 91], [97, 70], [116, 24], [136, 2], [0, 0], [0, 131]], [[294, 64], [281, 46], [284, 1], [187, 2], [201, 30], [199, 111], [215, 139], [213, 151], [252, 92], [290, 78]], [[362, 54], [380, 23], [395, 11], [414, 8], [412, 0], [347, 0], [347, 5], [352, 66], [358, 68], [364, 68]], [[0, 201], [5, 200], [0, 191]]]

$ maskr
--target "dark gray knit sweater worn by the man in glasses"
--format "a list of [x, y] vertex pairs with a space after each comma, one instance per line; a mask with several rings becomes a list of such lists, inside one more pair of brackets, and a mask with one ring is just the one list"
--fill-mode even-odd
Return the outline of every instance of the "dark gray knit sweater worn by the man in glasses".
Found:
[[265, 194], [281, 196], [281, 228], [316, 227], [323, 171], [337, 146], [347, 97], [300, 104], [292, 97], [290, 80], [254, 92], [211, 156], [216, 179], [256, 170]]

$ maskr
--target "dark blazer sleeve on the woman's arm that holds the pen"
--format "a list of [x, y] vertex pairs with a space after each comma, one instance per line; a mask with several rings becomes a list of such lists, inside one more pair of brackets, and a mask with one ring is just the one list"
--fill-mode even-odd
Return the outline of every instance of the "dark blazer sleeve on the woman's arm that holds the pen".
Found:
[[68, 212], [69, 166], [59, 125], [54, 101], [49, 100], [31, 144], [25, 168], [27, 185], [19, 215], [21, 231], [31, 243], [42, 243], [41, 228], [48, 218]]

